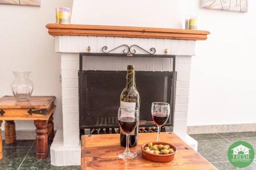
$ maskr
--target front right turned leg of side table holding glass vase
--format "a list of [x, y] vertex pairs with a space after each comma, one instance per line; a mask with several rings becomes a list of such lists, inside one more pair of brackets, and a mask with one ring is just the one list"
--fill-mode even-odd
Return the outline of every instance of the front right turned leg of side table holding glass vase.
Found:
[[45, 159], [48, 156], [47, 120], [34, 120], [36, 127], [36, 158]]

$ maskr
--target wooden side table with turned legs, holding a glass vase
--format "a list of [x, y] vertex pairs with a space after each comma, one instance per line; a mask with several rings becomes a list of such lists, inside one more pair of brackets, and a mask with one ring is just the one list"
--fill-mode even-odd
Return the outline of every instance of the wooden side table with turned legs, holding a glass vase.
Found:
[[[0, 128], [5, 120], [5, 142], [15, 143], [14, 120], [33, 120], [36, 127], [36, 158], [47, 158], [48, 139], [53, 140], [54, 96], [31, 96], [28, 101], [16, 101], [13, 96], [0, 99]], [[0, 129], [0, 159], [2, 153], [2, 135]]]

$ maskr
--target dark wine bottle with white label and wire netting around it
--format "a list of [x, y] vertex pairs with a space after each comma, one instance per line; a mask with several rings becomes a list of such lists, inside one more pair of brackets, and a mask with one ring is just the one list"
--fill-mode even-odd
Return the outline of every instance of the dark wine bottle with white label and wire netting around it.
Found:
[[[120, 95], [120, 106], [126, 107], [127, 109], [134, 109], [140, 107], [140, 95], [136, 89], [135, 84], [135, 66], [127, 66], [127, 75], [126, 75], [126, 87], [123, 89]], [[126, 135], [120, 129], [120, 144], [123, 147], [126, 147]], [[130, 147], [135, 147], [138, 143], [138, 133], [139, 133], [139, 124], [135, 127], [133, 132], [130, 134], [129, 145]]]

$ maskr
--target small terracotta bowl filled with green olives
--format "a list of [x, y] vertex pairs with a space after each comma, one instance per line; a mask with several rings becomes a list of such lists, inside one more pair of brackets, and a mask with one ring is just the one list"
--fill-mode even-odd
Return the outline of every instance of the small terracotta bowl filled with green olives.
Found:
[[142, 156], [154, 162], [168, 162], [174, 160], [177, 148], [166, 142], [147, 142], [141, 145]]

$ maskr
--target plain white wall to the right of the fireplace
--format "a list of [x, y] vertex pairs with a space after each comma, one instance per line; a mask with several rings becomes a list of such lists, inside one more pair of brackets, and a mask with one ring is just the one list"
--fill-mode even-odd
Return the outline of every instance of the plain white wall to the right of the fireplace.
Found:
[[211, 33], [193, 57], [188, 125], [256, 123], [256, 1], [248, 13], [201, 9], [199, 0], [180, 5]]

